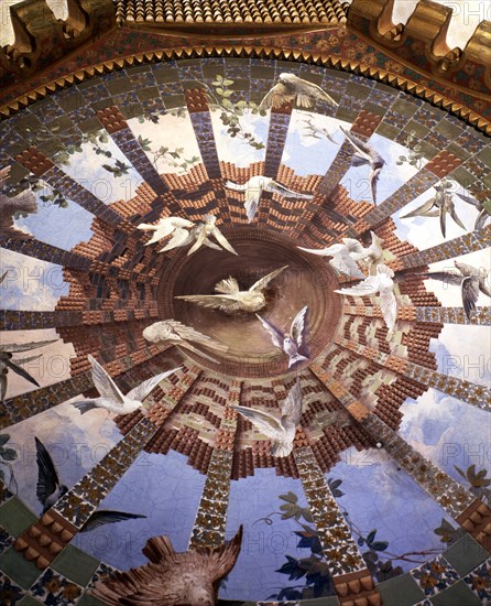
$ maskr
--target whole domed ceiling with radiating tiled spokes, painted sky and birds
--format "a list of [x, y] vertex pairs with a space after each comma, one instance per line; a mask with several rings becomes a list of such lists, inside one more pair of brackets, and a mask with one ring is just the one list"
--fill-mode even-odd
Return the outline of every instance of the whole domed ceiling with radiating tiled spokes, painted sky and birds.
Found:
[[100, 604], [148, 539], [240, 524], [223, 604], [485, 603], [485, 137], [302, 62], [102, 72], [0, 127], [6, 603]]

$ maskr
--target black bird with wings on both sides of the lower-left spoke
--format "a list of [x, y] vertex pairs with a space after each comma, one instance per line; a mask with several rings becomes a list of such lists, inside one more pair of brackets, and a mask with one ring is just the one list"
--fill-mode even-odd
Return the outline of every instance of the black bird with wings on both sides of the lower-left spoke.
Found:
[[[37, 463], [36, 497], [43, 506], [43, 513], [45, 513], [68, 491], [68, 487], [59, 481], [56, 466], [44, 444], [36, 436], [34, 436], [34, 440]], [[102, 524], [134, 520], [137, 518], [146, 518], [146, 516], [113, 511], [111, 509], [99, 509], [89, 517], [79, 532], [87, 532]]]

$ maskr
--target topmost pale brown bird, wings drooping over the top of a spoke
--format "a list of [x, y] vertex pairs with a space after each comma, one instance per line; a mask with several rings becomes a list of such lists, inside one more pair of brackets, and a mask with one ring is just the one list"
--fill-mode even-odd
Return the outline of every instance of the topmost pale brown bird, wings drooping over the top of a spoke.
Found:
[[310, 109], [316, 101], [326, 101], [336, 107], [339, 106], [325, 90], [304, 80], [295, 74], [280, 74], [280, 82], [264, 96], [259, 109], [280, 109], [286, 104], [294, 102], [297, 107]]

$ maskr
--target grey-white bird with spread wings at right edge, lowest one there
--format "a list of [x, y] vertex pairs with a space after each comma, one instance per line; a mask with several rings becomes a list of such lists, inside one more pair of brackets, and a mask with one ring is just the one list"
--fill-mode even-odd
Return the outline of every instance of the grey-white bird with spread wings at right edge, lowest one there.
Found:
[[482, 292], [482, 294], [491, 296], [491, 289], [487, 282], [488, 272], [484, 268], [473, 268], [472, 266], [460, 263], [459, 261], [454, 261], [454, 264], [458, 273], [450, 271], [430, 271], [423, 273], [422, 277], [460, 286], [463, 311], [466, 317], [470, 320], [476, 312], [479, 293]]

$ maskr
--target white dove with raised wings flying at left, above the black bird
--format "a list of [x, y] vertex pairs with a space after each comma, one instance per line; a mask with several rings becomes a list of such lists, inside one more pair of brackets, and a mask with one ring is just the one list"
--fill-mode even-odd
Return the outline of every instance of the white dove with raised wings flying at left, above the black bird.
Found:
[[146, 396], [149, 396], [152, 389], [162, 380], [179, 369], [173, 368], [166, 372], [155, 375], [155, 377], [143, 381], [123, 396], [119, 387], [100, 366], [100, 364], [90, 355], [88, 356], [88, 360], [92, 367], [92, 381], [99, 392], [99, 398], [74, 402], [73, 405], [80, 411], [80, 414], [84, 414], [95, 408], [103, 408], [109, 412], [116, 412], [117, 414], [128, 414], [129, 412], [134, 412], [140, 409], [141, 412], [145, 414], [146, 411], [143, 407], [143, 400]]

